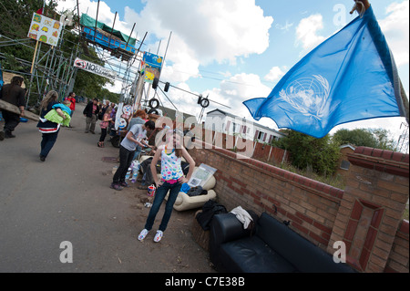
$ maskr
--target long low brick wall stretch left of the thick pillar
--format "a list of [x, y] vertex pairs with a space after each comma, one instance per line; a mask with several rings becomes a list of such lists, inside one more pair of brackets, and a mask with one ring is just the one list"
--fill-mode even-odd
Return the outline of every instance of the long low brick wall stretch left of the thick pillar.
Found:
[[343, 191], [253, 159], [238, 160], [223, 149], [191, 150], [192, 157], [218, 169], [219, 202], [227, 209], [267, 212], [326, 249]]

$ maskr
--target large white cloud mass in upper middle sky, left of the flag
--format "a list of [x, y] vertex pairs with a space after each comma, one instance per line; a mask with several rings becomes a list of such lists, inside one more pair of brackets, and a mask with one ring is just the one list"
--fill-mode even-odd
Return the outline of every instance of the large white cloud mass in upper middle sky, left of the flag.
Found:
[[[67, 0], [64, 5], [75, 7], [76, 2]], [[97, 2], [81, 1], [80, 13], [85, 13], [87, 8], [88, 15], [97, 14]], [[263, 10], [255, 5], [254, 0], [150, 0], [139, 13], [125, 7], [124, 14], [124, 22], [117, 19], [115, 27], [129, 33], [132, 24], [137, 23], [135, 32], [138, 31], [138, 36], [148, 31], [143, 50], [156, 53], [161, 39], [159, 55], [164, 56], [169, 32], [172, 31], [161, 79], [188, 91], [191, 89], [186, 82], [200, 76], [200, 65], [211, 62], [235, 64], [237, 60], [241, 62], [243, 57], [263, 53], [269, 47], [268, 32], [273, 22], [271, 16], [263, 16]], [[114, 15], [108, 5], [101, 1], [98, 20], [109, 26]], [[206, 112], [220, 108], [250, 118], [241, 102], [267, 97], [272, 88], [261, 84], [257, 75], [231, 76], [229, 71], [224, 74], [229, 79], [222, 81], [220, 88], [194, 93], [202, 93], [204, 97], [209, 94], [211, 100], [231, 106], [231, 109], [226, 109], [210, 102]], [[150, 97], [152, 94], [153, 90]], [[158, 94], [162, 102], [172, 108], [168, 99], [161, 92]], [[170, 88], [167, 96], [179, 110], [199, 115], [201, 108], [196, 96], [177, 88]]]

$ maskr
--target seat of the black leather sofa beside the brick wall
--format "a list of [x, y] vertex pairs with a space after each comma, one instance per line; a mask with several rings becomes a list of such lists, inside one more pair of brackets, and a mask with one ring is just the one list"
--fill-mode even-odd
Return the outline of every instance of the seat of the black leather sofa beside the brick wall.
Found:
[[255, 235], [221, 244], [220, 260], [228, 272], [296, 272], [296, 268], [291, 263]]

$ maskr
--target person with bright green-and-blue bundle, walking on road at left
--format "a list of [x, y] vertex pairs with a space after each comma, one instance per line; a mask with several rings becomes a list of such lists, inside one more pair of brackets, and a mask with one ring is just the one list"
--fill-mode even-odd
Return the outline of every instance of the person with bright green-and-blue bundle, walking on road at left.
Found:
[[[53, 109], [53, 106], [58, 103], [57, 100], [58, 93], [56, 91], [49, 91], [41, 102], [40, 121], [37, 123], [38, 130], [43, 133], [43, 140], [41, 140], [40, 161], [46, 161], [48, 152], [51, 151], [56, 143], [58, 131], [60, 130], [60, 125], [58, 123], [46, 120], [44, 118], [46, 114]], [[66, 116], [61, 109], [56, 109], [56, 112], [63, 119], [66, 119]]]

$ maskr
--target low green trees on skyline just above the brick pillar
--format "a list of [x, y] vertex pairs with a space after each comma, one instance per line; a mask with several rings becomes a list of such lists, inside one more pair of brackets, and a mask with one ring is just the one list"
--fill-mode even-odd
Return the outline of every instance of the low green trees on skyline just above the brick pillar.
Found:
[[395, 149], [395, 141], [389, 139], [390, 131], [384, 129], [355, 129], [337, 130], [333, 134], [333, 139], [340, 144], [350, 143], [356, 147], [364, 146], [374, 149], [390, 150]]

